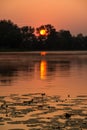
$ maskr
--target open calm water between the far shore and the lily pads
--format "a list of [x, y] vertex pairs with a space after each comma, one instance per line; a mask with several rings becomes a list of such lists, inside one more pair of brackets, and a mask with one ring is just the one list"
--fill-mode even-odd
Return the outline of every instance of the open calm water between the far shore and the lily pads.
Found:
[[87, 94], [87, 53], [0, 53], [0, 95]]

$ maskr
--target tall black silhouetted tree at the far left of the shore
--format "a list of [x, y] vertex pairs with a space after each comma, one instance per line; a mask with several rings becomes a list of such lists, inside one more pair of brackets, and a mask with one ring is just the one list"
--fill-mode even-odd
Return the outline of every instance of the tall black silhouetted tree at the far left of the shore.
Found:
[[0, 21], [0, 48], [1, 49], [18, 49], [22, 37], [20, 34], [20, 29], [17, 25], [12, 23], [10, 20]]

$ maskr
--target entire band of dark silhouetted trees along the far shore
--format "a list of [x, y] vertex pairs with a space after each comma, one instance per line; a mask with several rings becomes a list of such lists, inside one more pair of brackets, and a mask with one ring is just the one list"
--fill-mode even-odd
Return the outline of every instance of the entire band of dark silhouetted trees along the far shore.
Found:
[[[40, 35], [45, 29], [46, 35]], [[11, 20], [0, 20], [0, 51], [87, 50], [87, 36], [73, 36], [69, 30], [57, 31], [51, 24], [38, 28], [18, 27]]]

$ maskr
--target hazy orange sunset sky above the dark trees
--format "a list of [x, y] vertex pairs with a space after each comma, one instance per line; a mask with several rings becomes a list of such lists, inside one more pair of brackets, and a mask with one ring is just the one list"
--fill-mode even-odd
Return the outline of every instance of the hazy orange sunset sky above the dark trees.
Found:
[[87, 35], [87, 0], [0, 0], [0, 20], [18, 26], [52, 24], [57, 31]]

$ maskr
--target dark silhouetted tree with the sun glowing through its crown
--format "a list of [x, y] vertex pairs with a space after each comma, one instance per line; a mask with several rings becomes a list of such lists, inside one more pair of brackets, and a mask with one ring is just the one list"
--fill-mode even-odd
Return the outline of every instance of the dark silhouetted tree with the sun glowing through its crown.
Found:
[[[40, 35], [40, 30], [42, 29], [46, 30], [46, 35]], [[36, 32], [38, 34], [37, 40], [39, 43], [39, 48], [41, 48], [42, 50], [53, 50], [55, 48], [57, 32], [54, 26], [52, 26], [51, 24], [42, 25], [36, 28]]]

